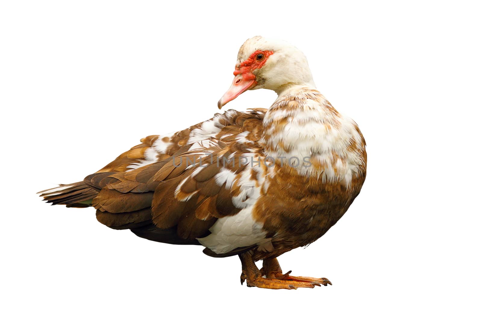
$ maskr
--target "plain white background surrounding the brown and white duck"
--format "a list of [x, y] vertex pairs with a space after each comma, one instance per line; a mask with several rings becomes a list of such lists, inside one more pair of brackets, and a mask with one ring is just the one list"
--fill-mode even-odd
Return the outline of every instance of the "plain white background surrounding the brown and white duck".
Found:
[[[480, 7], [330, 2], [2, 1], [2, 319], [480, 320]], [[212, 117], [255, 35], [301, 49], [367, 141], [347, 214], [280, 258], [333, 286], [241, 286], [238, 257], [40, 202], [140, 138]]]

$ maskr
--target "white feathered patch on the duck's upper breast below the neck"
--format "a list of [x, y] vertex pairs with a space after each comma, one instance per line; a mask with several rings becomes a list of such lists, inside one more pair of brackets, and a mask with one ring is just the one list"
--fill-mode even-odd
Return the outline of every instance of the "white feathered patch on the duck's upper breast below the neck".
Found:
[[[275, 103], [276, 104], [276, 103]], [[273, 134], [276, 120], [288, 117], [288, 123], [283, 130]], [[321, 121], [322, 120], [322, 121]], [[290, 152], [279, 148], [267, 152], [267, 156], [277, 158], [298, 159], [300, 166], [296, 168], [301, 175], [319, 175], [325, 181], [344, 181], [348, 186], [351, 184], [353, 175], [358, 175], [358, 167], [362, 164], [362, 155], [352, 152], [348, 146], [355, 141], [361, 150], [362, 137], [356, 130], [356, 125], [348, 117], [332, 116], [320, 103], [307, 99], [303, 108], [296, 110], [269, 110], [263, 120], [267, 126], [266, 132], [270, 135], [273, 146], [289, 147]], [[337, 125], [337, 126], [335, 126]], [[334, 153], [338, 159], [334, 158]], [[316, 167], [302, 166], [305, 157], [314, 157], [325, 164], [323, 172], [315, 172]], [[334, 162], [332, 162], [334, 160]], [[332, 165], [335, 163], [335, 167]], [[286, 165], [287, 166], [287, 165]]]

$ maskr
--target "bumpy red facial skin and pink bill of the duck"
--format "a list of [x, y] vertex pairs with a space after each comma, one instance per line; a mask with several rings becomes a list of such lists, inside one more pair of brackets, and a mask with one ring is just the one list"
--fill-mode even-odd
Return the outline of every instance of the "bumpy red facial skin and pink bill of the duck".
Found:
[[233, 83], [223, 97], [221, 97], [217, 103], [217, 107], [221, 109], [221, 107], [241, 95], [241, 93], [244, 91], [256, 86], [257, 82], [254, 71], [261, 68], [268, 60], [268, 57], [272, 54], [273, 51], [256, 50], [249, 56], [248, 59], [243, 61], [241, 64], [237, 64], [236, 70], [233, 72]]

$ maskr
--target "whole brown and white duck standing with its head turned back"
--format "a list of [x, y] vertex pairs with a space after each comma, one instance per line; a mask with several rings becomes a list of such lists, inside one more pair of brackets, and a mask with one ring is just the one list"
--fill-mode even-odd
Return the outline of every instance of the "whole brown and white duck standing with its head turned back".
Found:
[[283, 273], [277, 257], [323, 236], [358, 196], [367, 164], [362, 132], [316, 89], [306, 56], [286, 41], [247, 39], [217, 106], [257, 89], [278, 97], [267, 109], [230, 109], [147, 136], [83, 180], [40, 196], [94, 207], [100, 223], [151, 241], [237, 255], [249, 287], [331, 285]]

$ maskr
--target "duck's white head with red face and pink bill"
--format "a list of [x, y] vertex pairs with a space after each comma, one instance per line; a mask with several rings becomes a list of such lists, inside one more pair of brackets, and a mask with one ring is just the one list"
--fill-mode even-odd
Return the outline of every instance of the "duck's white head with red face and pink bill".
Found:
[[217, 106], [221, 109], [246, 90], [265, 88], [279, 93], [287, 85], [315, 87], [305, 55], [286, 41], [256, 36], [241, 46], [233, 83]]

